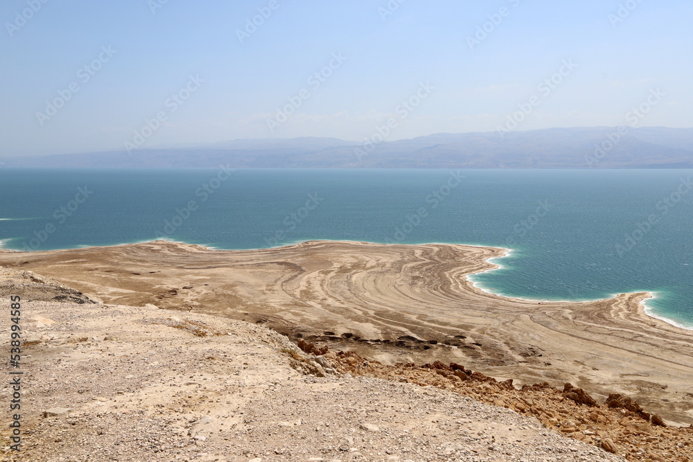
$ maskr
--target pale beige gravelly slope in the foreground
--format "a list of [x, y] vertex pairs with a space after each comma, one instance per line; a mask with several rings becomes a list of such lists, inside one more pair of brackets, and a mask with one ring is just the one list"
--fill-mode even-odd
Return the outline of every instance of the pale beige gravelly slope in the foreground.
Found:
[[3, 304], [17, 294], [23, 441], [3, 460], [623, 460], [450, 391], [317, 377], [315, 357], [243, 321], [94, 303], [0, 268]]

